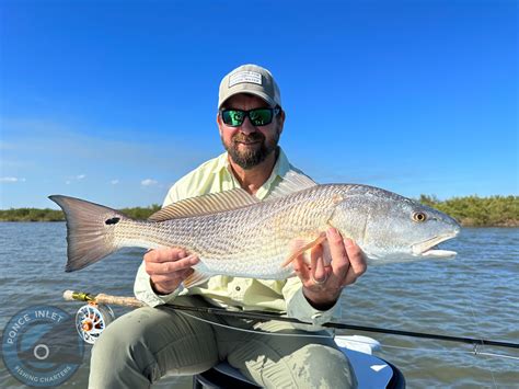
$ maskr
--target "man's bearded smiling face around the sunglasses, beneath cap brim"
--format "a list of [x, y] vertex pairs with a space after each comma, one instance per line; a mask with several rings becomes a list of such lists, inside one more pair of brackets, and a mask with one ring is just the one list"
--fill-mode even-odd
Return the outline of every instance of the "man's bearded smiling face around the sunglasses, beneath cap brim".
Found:
[[[222, 108], [249, 111], [270, 107], [263, 99], [252, 94], [235, 94], [229, 98]], [[242, 169], [249, 170], [262, 163], [276, 150], [279, 135], [282, 131], [285, 113], [275, 115], [266, 126], [253, 126], [245, 117], [242, 125], [231, 127], [223, 123], [220, 115], [217, 118], [223, 147], [231, 159]]]

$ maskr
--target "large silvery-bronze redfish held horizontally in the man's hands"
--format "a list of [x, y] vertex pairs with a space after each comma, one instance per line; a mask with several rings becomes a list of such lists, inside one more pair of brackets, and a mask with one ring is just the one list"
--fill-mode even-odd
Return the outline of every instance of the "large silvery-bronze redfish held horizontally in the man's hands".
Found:
[[180, 201], [146, 220], [74, 197], [49, 198], [66, 217], [66, 272], [125, 247], [175, 247], [200, 260], [186, 286], [212, 275], [293, 276], [291, 262], [323, 243], [330, 227], [354, 240], [368, 263], [453, 258], [437, 244], [461, 229], [447, 214], [383, 188], [316, 184], [301, 174], [287, 176], [264, 201], [234, 188]]

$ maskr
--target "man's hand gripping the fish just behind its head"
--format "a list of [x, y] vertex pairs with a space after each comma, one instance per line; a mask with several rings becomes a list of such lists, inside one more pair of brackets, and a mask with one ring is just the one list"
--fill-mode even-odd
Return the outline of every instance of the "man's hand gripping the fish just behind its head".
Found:
[[[319, 244], [311, 251], [310, 265], [304, 263], [303, 254], [293, 261], [293, 270], [303, 284], [304, 296], [319, 310], [332, 308], [342, 289], [355, 283], [367, 268], [360, 248], [350, 239], [343, 239], [335, 228], [328, 228], [326, 240], [330, 253]], [[325, 263], [330, 263], [325, 260], [328, 255], [332, 262], [325, 266]]]

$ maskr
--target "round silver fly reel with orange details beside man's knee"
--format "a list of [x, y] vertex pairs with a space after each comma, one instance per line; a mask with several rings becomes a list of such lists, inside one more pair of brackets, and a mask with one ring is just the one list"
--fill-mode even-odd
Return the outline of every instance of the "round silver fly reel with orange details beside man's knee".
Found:
[[89, 302], [76, 313], [76, 330], [89, 344], [94, 344], [106, 325], [115, 319], [112, 308], [105, 305]]

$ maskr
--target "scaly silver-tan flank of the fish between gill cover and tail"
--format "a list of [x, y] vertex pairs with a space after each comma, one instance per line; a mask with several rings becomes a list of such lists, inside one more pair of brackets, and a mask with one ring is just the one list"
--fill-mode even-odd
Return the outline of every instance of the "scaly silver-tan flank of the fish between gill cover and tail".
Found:
[[310, 242], [325, 230], [335, 206], [333, 192], [333, 187], [311, 188], [212, 215], [129, 221], [116, 234], [124, 237], [124, 244], [149, 241], [182, 247], [200, 258], [206, 272], [284, 278], [291, 270], [279, 265], [290, 256], [290, 243], [297, 239]]

